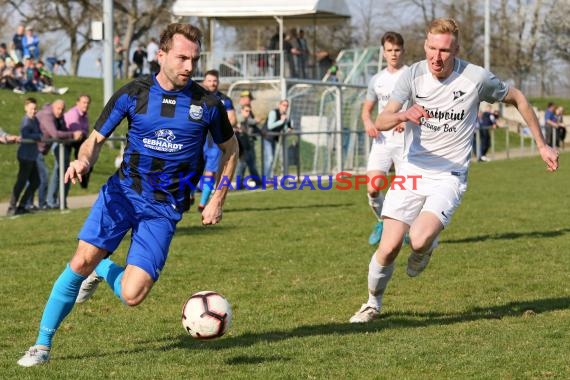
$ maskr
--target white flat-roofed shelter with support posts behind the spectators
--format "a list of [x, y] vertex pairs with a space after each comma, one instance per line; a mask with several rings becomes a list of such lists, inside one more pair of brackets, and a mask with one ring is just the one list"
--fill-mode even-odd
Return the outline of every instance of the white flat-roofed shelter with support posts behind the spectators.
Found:
[[[334, 24], [350, 18], [345, 0], [177, 0], [172, 7], [174, 16], [207, 17], [210, 21], [210, 53], [213, 51], [215, 22], [239, 26], [278, 24], [279, 50], [283, 51], [284, 23], [295, 26]], [[314, 51], [315, 46], [313, 46]], [[282, 89], [284, 86], [284, 57], [280, 57]]]

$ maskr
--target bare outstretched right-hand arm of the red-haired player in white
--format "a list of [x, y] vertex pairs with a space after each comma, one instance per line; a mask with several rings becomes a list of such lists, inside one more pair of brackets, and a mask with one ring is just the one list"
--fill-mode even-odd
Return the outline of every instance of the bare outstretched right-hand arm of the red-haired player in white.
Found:
[[542, 132], [540, 131], [536, 114], [530, 106], [526, 96], [524, 96], [519, 89], [511, 87], [505, 96], [505, 99], [503, 99], [503, 102], [512, 104], [517, 108], [532, 132], [532, 136], [534, 137], [540, 156], [542, 157], [542, 160], [546, 162], [546, 169], [550, 172], [556, 171], [556, 169], [558, 169], [558, 152], [546, 145]]

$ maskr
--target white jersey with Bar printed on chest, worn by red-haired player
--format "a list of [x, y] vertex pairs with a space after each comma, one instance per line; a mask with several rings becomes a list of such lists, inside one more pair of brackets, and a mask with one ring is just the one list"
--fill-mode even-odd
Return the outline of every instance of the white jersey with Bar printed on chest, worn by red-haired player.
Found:
[[409, 172], [465, 173], [479, 103], [501, 101], [508, 91], [508, 85], [488, 70], [457, 58], [451, 75], [441, 81], [430, 73], [425, 60], [405, 70], [391, 99], [417, 103], [430, 116], [419, 126], [406, 127], [413, 135], [405, 164]]

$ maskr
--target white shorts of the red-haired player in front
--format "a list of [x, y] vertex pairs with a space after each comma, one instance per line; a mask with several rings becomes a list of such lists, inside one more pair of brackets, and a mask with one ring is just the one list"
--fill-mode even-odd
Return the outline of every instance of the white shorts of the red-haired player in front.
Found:
[[467, 190], [467, 173], [442, 173], [429, 178], [422, 176], [415, 179], [416, 186], [408, 174], [399, 175], [405, 177], [404, 188], [395, 185], [388, 190], [382, 216], [412, 225], [421, 212], [429, 211], [446, 227]]

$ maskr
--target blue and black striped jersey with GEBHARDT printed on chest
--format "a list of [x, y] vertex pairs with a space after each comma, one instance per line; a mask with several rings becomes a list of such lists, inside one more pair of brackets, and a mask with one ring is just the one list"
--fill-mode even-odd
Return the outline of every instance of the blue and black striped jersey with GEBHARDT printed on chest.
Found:
[[188, 208], [190, 190], [202, 174], [207, 133], [216, 144], [234, 134], [224, 104], [193, 81], [166, 91], [154, 76], [139, 77], [113, 95], [95, 130], [109, 137], [124, 118], [127, 144], [115, 174], [121, 186], [179, 210]]

